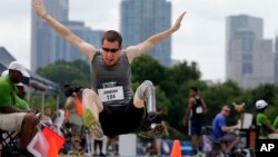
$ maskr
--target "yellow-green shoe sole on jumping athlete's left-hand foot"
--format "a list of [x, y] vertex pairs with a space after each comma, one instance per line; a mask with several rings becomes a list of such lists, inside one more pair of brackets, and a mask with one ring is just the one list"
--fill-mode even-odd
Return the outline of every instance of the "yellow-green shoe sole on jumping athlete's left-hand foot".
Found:
[[85, 126], [89, 128], [90, 133], [92, 133], [97, 138], [101, 138], [103, 136], [103, 131], [100, 122], [96, 119], [93, 112], [86, 108], [82, 115], [82, 119]]

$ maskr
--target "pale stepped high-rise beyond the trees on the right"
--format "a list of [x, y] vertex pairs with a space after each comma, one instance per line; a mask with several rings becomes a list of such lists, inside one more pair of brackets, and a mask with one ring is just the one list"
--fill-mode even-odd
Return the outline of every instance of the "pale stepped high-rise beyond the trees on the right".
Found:
[[244, 88], [274, 82], [272, 41], [264, 39], [262, 29], [260, 18], [226, 19], [226, 77]]

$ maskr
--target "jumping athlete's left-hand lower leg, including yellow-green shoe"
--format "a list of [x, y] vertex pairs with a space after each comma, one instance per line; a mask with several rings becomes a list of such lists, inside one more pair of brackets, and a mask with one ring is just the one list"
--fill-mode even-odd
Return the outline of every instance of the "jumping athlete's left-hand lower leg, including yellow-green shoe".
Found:
[[99, 124], [99, 112], [103, 110], [98, 95], [91, 89], [82, 90], [83, 122], [96, 137], [102, 137], [103, 131]]

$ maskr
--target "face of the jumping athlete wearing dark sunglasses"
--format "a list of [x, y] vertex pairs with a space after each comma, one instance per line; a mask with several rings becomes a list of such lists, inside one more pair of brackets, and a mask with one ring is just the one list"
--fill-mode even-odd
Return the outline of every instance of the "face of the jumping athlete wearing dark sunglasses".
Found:
[[103, 40], [102, 58], [107, 66], [112, 66], [119, 59], [121, 47], [118, 41]]

